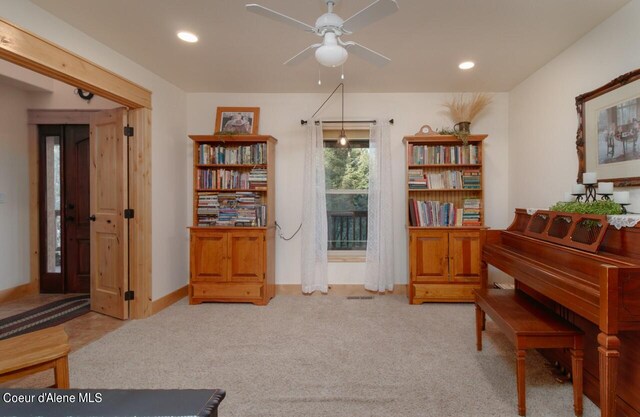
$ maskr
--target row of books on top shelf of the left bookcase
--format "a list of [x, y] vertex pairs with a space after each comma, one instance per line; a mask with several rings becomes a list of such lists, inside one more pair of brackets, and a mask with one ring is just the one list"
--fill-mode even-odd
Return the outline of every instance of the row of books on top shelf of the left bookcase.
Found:
[[200, 144], [198, 147], [199, 164], [247, 164], [267, 163], [267, 144], [256, 143], [246, 146], [226, 146]]

